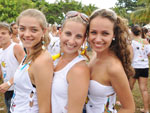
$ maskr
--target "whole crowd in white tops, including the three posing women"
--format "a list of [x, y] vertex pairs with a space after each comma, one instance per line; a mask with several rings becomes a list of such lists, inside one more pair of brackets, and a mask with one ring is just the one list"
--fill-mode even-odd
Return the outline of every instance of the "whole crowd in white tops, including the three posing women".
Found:
[[69, 11], [61, 27], [48, 24], [41, 11], [26, 9], [16, 22], [0, 22], [0, 92], [7, 112], [134, 113], [138, 80], [141, 111], [149, 113], [149, 42], [148, 29], [129, 29], [111, 9], [89, 17]]

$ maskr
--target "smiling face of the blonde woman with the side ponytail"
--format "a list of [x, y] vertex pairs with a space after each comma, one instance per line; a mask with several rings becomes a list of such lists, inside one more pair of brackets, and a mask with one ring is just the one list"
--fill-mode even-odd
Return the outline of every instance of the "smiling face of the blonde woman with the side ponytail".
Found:
[[19, 20], [19, 36], [26, 49], [33, 48], [41, 42], [44, 31], [39, 20], [34, 17], [24, 16]]

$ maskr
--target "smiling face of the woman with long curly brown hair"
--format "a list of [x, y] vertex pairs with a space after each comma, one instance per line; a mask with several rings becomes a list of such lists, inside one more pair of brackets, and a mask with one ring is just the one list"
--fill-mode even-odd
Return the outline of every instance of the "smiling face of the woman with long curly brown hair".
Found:
[[97, 16], [91, 20], [89, 42], [95, 52], [101, 53], [109, 49], [114, 38], [113, 29], [114, 23], [107, 18]]

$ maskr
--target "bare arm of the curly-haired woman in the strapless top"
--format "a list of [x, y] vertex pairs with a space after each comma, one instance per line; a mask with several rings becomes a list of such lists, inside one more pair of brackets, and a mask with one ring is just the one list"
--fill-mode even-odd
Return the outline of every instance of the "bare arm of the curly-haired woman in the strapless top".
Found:
[[121, 109], [118, 113], [134, 113], [135, 104], [132, 96], [132, 92], [129, 87], [129, 82], [124, 72], [124, 69], [120, 63], [111, 67], [109, 73], [111, 84], [119, 97], [121, 102]]

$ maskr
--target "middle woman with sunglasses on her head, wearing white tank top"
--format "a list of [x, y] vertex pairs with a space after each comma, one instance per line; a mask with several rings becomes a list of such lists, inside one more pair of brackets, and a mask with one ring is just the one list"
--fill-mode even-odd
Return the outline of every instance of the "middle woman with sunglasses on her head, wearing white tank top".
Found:
[[89, 68], [79, 54], [86, 38], [88, 17], [76, 11], [66, 14], [60, 32], [63, 55], [54, 69], [52, 113], [82, 113], [89, 86]]

